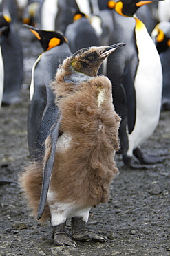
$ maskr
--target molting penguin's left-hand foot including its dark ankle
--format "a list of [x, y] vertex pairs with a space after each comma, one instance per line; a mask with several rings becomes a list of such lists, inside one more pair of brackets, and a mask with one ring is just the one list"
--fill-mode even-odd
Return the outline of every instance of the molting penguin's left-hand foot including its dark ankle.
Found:
[[65, 232], [65, 223], [61, 223], [53, 227], [54, 244], [56, 246], [73, 246], [76, 247], [76, 242], [70, 239]]

